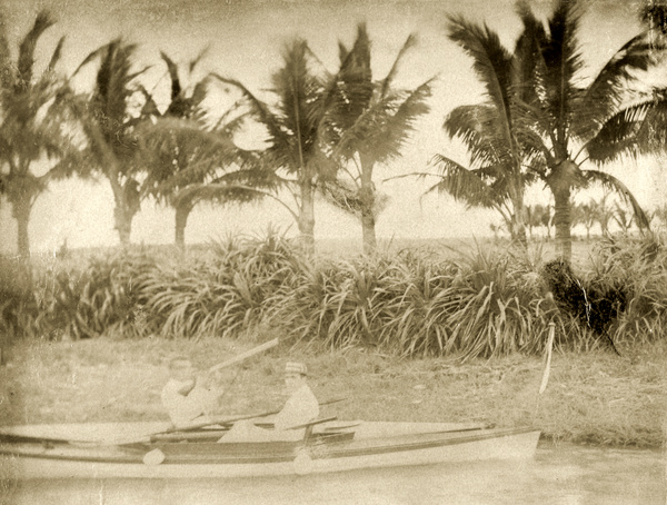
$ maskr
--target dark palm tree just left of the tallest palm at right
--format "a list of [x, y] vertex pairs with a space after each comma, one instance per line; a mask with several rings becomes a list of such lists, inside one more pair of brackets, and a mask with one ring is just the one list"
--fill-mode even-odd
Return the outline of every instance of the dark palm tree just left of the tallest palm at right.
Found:
[[[528, 20], [527, 20], [528, 21]], [[472, 58], [472, 68], [486, 89], [482, 103], [457, 107], [445, 120], [450, 138], [468, 148], [470, 166], [436, 155], [440, 181], [429, 190], [446, 191], [469, 206], [492, 208], [507, 222], [514, 241], [526, 244], [524, 194], [535, 180], [529, 168], [544, 165], [525, 137], [517, 103], [534, 100], [527, 86], [536, 65], [535, 23], [526, 22], [512, 52], [497, 33], [462, 18], [450, 18], [449, 38]]]

